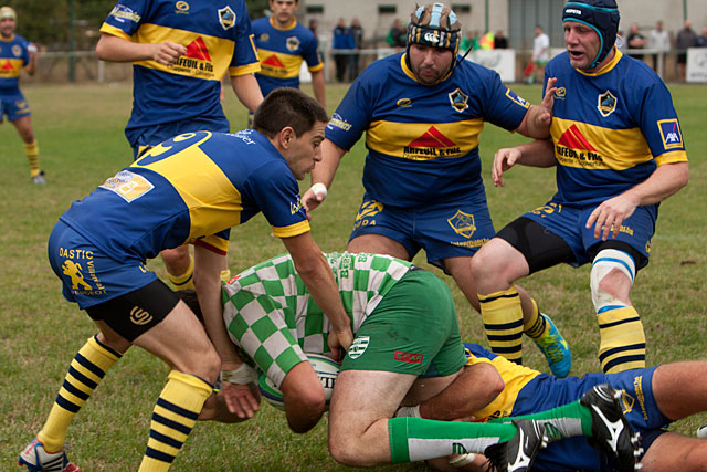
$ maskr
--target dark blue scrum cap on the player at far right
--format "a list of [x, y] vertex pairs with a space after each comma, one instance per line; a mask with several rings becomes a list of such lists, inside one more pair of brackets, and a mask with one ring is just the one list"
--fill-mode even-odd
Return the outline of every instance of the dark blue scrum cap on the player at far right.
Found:
[[602, 62], [614, 46], [619, 20], [615, 0], [568, 1], [562, 11], [562, 22], [577, 21], [591, 27], [599, 34], [599, 54], [592, 61], [590, 69]]

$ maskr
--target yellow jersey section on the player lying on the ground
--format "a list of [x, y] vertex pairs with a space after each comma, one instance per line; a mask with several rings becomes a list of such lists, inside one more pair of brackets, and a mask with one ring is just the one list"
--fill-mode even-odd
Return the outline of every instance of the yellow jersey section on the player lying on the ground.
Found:
[[496, 356], [493, 359], [486, 359], [482, 357], [476, 357], [472, 355], [468, 350], [466, 352], [468, 359], [466, 360], [467, 366], [473, 366], [479, 363], [487, 363], [492, 366], [496, 367], [498, 374], [506, 382], [506, 387], [504, 391], [502, 391], [498, 397], [494, 399], [486, 407], [482, 408], [478, 411], [473, 412], [472, 415], [476, 419], [486, 419], [486, 418], [505, 418], [509, 417], [513, 410], [514, 405], [516, 403], [516, 398], [518, 398], [518, 394], [530, 380], [540, 375], [539, 371], [529, 369], [528, 367], [519, 366], [518, 364], [511, 363], [503, 356]]

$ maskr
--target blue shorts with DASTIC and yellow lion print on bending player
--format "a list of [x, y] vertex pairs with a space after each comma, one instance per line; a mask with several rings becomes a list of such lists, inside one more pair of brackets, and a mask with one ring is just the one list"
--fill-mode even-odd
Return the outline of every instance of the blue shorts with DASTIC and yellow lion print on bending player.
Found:
[[157, 280], [145, 261], [130, 254], [119, 262], [110, 259], [63, 221], [54, 225], [48, 252], [52, 270], [62, 280], [64, 297], [82, 310]]

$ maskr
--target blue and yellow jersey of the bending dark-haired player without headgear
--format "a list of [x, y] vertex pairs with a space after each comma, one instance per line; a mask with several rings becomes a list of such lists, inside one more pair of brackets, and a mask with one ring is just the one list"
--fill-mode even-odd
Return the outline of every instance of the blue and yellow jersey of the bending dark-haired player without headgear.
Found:
[[278, 238], [309, 231], [287, 161], [246, 129], [167, 140], [75, 201], [61, 220], [119, 261], [189, 242], [225, 253], [230, 228], [261, 211]]

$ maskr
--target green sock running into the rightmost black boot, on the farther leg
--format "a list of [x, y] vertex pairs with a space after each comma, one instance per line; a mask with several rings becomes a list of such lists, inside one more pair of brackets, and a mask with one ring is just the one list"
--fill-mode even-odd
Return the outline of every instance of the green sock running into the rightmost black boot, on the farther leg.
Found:
[[[550, 442], [574, 436], [592, 436], [592, 413], [589, 408], [581, 405], [579, 400], [561, 407], [552, 408], [551, 410], [541, 411], [539, 413], [514, 418], [526, 418], [540, 421], [546, 427], [550, 437]], [[508, 424], [510, 423], [510, 418], [499, 418], [492, 420], [490, 422], [503, 422]]]

